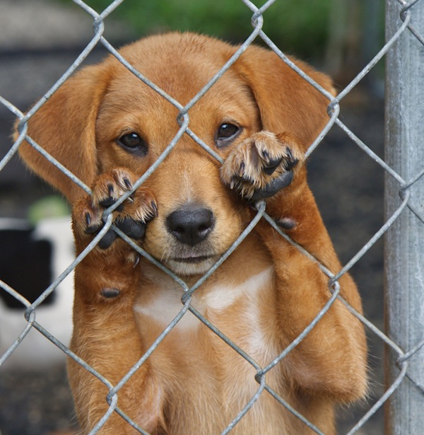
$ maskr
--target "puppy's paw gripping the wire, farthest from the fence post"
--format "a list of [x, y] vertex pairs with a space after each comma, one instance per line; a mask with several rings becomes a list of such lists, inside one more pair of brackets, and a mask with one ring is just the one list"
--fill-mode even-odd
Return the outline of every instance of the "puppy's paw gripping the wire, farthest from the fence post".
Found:
[[[133, 190], [136, 177], [128, 170], [116, 168], [95, 180], [93, 196], [81, 199], [73, 209], [74, 228], [86, 235], [95, 235], [104, 226], [105, 210], [125, 193]], [[143, 237], [146, 224], [158, 215], [155, 198], [150, 190], [139, 187], [114, 211], [113, 224], [134, 240]], [[110, 248], [117, 233], [111, 228], [98, 243], [99, 248]]]

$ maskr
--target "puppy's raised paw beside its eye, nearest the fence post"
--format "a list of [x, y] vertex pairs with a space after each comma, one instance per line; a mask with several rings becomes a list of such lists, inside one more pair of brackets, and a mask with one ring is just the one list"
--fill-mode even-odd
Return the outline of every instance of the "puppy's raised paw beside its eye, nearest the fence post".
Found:
[[276, 195], [293, 181], [303, 161], [300, 147], [289, 134], [259, 132], [242, 141], [225, 159], [221, 180], [250, 202]]

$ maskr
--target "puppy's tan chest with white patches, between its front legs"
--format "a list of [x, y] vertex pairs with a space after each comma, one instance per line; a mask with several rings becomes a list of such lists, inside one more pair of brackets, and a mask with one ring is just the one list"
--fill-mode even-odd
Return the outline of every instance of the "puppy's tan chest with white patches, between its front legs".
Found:
[[[194, 310], [213, 327], [192, 311], [185, 311], [182, 291], [175, 284], [156, 287], [155, 291], [155, 297], [144, 301], [139, 298], [134, 308], [146, 345], [152, 344], [172, 320], [182, 315], [151, 355], [152, 369], [175, 399], [172, 412], [180, 419], [184, 412], [179, 410], [179, 404], [184, 403], [184, 409], [199, 410], [191, 417], [199, 417], [196, 424], [203, 428], [199, 433], [212, 433], [208, 428], [211, 421], [224, 429], [257, 393], [257, 367], [252, 361], [264, 367], [278, 355], [273, 267], [262, 269], [238, 284], [213, 283], [195, 293]], [[278, 370], [273, 369], [266, 381], [281, 393]], [[237, 424], [235, 434], [283, 427], [283, 414], [270, 398], [269, 394], [261, 395], [252, 411]], [[202, 415], [208, 419], [204, 420]], [[179, 434], [179, 429], [173, 428], [172, 433]]]

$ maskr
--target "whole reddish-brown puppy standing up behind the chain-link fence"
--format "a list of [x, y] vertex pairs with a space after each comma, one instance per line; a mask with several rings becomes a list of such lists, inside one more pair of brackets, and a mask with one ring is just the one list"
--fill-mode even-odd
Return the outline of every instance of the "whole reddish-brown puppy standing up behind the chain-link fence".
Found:
[[[124, 47], [138, 71], [185, 105], [236, 47], [169, 34]], [[295, 61], [321, 86], [331, 81]], [[192, 285], [266, 211], [338, 272], [334, 248], [306, 182], [304, 153], [328, 120], [328, 100], [276, 54], [249, 47], [189, 110], [189, 128], [114, 223]], [[88, 196], [29, 144], [28, 165], [73, 204], [77, 253], [102, 227], [102, 211], [148, 170], [179, 129], [178, 110], [113, 57], [66, 81], [29, 122], [28, 134], [93, 188]], [[71, 349], [115, 385], [182, 309], [181, 286], [110, 230], [76, 268]], [[192, 307], [256, 364], [276, 359], [331, 297], [328, 277], [263, 220], [192, 295]], [[351, 277], [341, 296], [361, 311]], [[118, 391], [117, 405], [151, 434], [220, 434], [259, 388], [257, 369], [187, 311]], [[363, 326], [336, 299], [312, 331], [264, 375], [290, 406], [334, 434], [334, 406], [365, 395]], [[83, 431], [107, 411], [107, 387], [75, 361], [69, 379]], [[114, 412], [102, 434], [133, 434]], [[138, 433], [138, 432], [137, 432]], [[310, 434], [264, 391], [232, 434]]]

